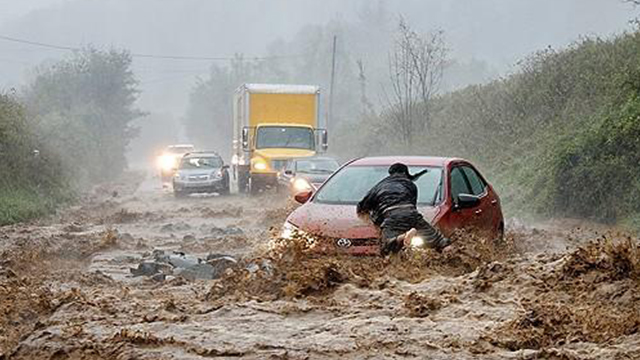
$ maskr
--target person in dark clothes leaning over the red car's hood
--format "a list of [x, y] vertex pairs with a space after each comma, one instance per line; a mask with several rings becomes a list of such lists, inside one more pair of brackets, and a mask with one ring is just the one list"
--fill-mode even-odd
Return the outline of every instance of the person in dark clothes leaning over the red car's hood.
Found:
[[427, 170], [409, 174], [402, 163], [389, 167], [389, 176], [378, 182], [358, 203], [360, 217], [368, 217], [380, 228], [381, 253], [397, 253], [413, 239], [422, 239], [424, 245], [441, 250], [451, 244], [440, 231], [431, 226], [416, 207], [418, 187], [414, 184]]

